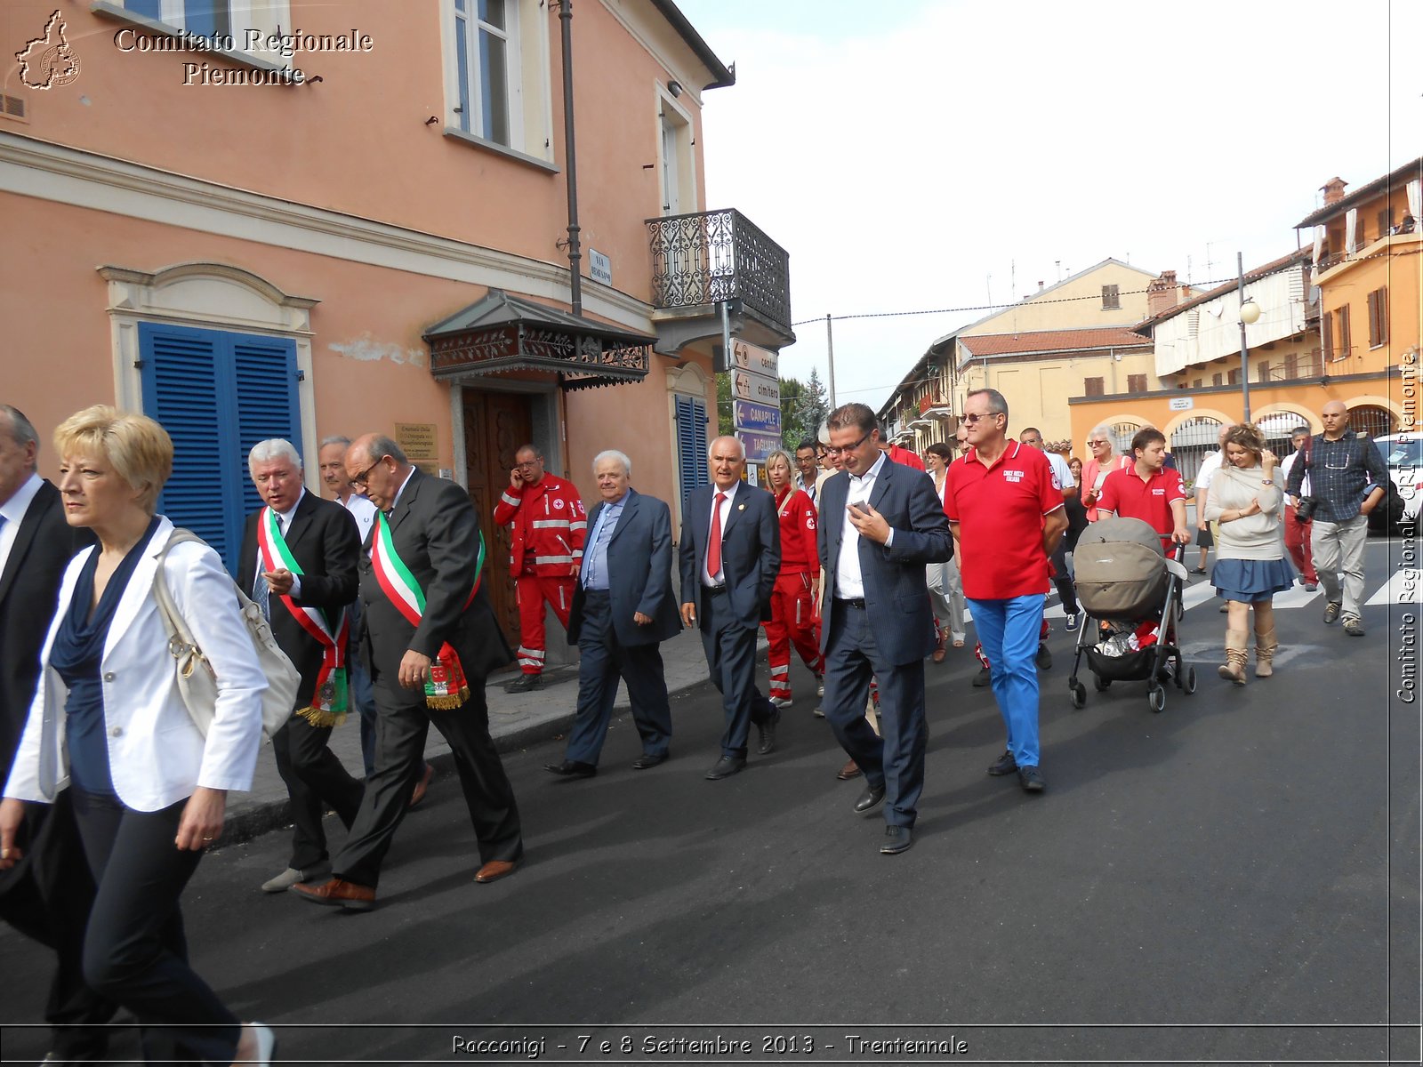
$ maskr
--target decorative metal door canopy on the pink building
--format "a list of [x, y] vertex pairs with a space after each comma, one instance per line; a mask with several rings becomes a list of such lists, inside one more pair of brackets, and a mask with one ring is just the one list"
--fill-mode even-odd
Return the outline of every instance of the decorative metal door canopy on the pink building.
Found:
[[424, 339], [435, 378], [532, 370], [556, 374], [561, 388], [642, 381], [657, 340], [502, 289], [431, 326]]

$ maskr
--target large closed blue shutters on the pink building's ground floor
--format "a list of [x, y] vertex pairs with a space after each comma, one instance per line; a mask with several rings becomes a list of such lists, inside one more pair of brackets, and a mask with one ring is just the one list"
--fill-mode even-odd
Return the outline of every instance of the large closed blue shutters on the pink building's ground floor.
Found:
[[302, 450], [296, 344], [139, 323], [138, 346], [144, 411], [174, 441], [158, 511], [212, 545], [235, 573], [243, 522], [260, 506], [248, 451], [269, 437]]

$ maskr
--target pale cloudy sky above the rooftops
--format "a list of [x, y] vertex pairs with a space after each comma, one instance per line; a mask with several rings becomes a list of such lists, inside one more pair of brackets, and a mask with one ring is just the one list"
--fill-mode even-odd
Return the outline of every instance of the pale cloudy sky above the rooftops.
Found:
[[1339, 175], [1423, 154], [1417, 0], [677, 0], [707, 208], [791, 256], [781, 374], [877, 407], [933, 339], [1109, 256], [1205, 285], [1296, 248]]

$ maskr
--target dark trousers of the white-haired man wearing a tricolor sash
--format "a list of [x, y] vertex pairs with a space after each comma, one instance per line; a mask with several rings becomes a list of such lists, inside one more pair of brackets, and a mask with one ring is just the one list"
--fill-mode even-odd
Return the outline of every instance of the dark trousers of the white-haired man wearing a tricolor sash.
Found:
[[272, 738], [276, 770], [292, 798], [292, 859], [287, 866], [310, 871], [326, 862], [326, 831], [322, 817], [327, 805], [350, 829], [360, 811], [361, 784], [350, 775], [327, 744], [332, 727], [312, 726], [299, 716]]

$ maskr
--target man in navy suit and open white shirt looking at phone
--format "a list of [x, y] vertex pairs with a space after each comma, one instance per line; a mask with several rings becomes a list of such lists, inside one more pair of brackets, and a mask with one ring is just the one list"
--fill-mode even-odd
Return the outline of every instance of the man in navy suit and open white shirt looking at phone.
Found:
[[[926, 563], [953, 541], [933, 482], [879, 451], [875, 413], [845, 404], [830, 415], [840, 474], [821, 489], [820, 566], [825, 576], [825, 718], [865, 773], [855, 811], [884, 804], [885, 855], [914, 844], [924, 791], [924, 657], [933, 652]], [[879, 734], [865, 720], [869, 679], [879, 683]]]

